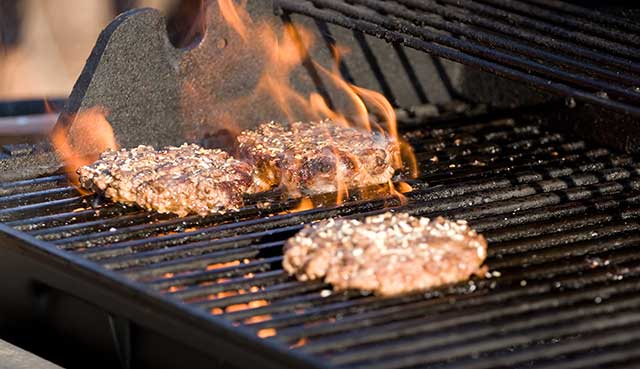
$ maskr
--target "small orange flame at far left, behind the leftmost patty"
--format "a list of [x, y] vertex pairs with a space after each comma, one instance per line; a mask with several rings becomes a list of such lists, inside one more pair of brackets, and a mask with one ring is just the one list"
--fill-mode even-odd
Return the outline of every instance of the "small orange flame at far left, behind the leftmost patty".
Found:
[[51, 143], [69, 180], [79, 185], [76, 170], [95, 162], [107, 150], [118, 149], [115, 134], [99, 107], [75, 115], [61, 115], [51, 133]]

